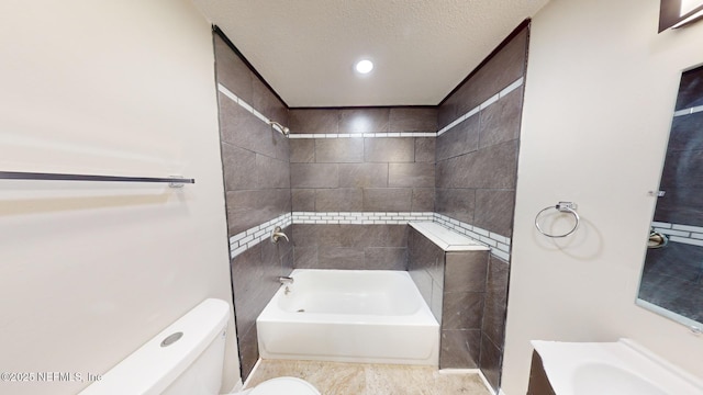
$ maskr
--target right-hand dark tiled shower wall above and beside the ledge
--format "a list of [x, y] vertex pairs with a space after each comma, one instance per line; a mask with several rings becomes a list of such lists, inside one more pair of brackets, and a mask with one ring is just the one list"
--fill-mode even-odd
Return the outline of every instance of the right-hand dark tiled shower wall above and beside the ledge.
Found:
[[[506, 238], [512, 236], [515, 205], [527, 37], [525, 25], [439, 106], [438, 114], [435, 211]], [[494, 388], [503, 353], [507, 273], [509, 263], [491, 253], [479, 366]]]

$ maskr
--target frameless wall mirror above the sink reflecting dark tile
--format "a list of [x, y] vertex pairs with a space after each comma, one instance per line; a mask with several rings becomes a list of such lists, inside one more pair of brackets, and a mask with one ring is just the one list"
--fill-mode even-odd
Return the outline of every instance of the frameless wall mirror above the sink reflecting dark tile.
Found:
[[703, 326], [703, 66], [681, 75], [637, 304]]

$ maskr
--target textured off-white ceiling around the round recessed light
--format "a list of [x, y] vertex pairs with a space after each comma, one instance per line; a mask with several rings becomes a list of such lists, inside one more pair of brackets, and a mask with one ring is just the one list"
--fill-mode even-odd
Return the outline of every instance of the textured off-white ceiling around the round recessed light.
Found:
[[292, 108], [437, 104], [548, 2], [193, 1]]

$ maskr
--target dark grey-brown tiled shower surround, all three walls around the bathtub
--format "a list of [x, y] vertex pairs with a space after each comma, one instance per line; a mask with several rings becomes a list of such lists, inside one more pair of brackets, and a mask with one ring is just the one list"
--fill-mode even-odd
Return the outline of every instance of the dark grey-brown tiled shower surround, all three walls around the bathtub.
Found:
[[[523, 29], [438, 108], [288, 110], [215, 36], [243, 377], [258, 358], [255, 319], [278, 275], [408, 269], [403, 224], [427, 216], [499, 247], [475, 306], [482, 315], [458, 329], [473, 336], [472, 361], [498, 387], [509, 270], [500, 257], [509, 259], [512, 234], [526, 46]], [[289, 126], [291, 138], [261, 119]], [[292, 221], [291, 244], [259, 242], [272, 221]]]

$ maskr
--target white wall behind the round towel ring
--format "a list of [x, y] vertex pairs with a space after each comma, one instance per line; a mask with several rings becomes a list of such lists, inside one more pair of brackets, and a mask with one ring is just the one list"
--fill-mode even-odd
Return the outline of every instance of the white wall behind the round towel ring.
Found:
[[[680, 71], [703, 23], [657, 34], [657, 0], [554, 0], [533, 20], [515, 207], [503, 390], [524, 394], [529, 340], [628, 337], [703, 376], [703, 338], [635, 306]], [[562, 241], [535, 214], [579, 204]], [[558, 224], [557, 229], [566, 226]]]

